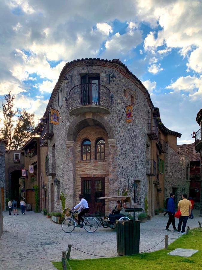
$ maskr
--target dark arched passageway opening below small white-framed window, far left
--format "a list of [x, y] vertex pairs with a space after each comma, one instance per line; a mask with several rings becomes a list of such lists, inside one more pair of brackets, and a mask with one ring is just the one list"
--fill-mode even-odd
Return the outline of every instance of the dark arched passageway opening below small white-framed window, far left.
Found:
[[21, 170], [15, 170], [11, 173], [11, 199], [16, 199], [18, 206], [20, 202], [19, 178], [22, 177]]

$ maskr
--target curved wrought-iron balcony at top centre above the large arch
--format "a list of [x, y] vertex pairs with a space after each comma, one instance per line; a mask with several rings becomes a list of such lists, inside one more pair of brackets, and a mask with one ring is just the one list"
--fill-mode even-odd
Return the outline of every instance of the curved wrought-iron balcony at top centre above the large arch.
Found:
[[108, 113], [114, 107], [113, 94], [98, 83], [83, 83], [72, 87], [66, 99], [69, 115], [80, 113]]

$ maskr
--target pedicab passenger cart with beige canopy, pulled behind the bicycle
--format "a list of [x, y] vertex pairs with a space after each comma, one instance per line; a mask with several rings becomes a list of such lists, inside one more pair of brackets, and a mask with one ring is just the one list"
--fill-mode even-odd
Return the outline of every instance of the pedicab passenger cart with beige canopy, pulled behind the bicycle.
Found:
[[[109, 201], [121, 201], [121, 200], [125, 200], [125, 202], [128, 205], [128, 209], [131, 207], [131, 198], [130, 197], [126, 197], [126, 196], [99, 197], [97, 199], [98, 199], [98, 201], [101, 200], [101, 199], [103, 199], [105, 201], [107, 200], [108, 202]], [[104, 206], [105, 206], [105, 203], [103, 204], [103, 207]], [[125, 211], [126, 211], [126, 209], [127, 208], [125, 208]], [[106, 218], [106, 213], [104, 213], [104, 218], [103, 218], [102, 213], [103, 212], [101, 210], [101, 211], [96, 212], [95, 214], [93, 214], [98, 219], [98, 226], [103, 227], [103, 228], [115, 229], [116, 228], [116, 221], [114, 221], [114, 224], [110, 224], [109, 223], [109, 218]], [[118, 220], [130, 220], [130, 212], [127, 211]]]

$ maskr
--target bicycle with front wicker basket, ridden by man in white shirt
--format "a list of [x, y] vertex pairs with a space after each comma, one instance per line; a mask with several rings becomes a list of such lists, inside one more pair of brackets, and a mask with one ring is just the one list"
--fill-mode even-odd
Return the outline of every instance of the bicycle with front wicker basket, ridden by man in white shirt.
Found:
[[[75, 229], [76, 222], [78, 223], [78, 219], [74, 216], [76, 212], [70, 211], [72, 216], [63, 220], [61, 226], [64, 232], [72, 232]], [[98, 221], [94, 217], [86, 217], [85, 214], [82, 226], [86, 232], [95, 232], [98, 229]]]

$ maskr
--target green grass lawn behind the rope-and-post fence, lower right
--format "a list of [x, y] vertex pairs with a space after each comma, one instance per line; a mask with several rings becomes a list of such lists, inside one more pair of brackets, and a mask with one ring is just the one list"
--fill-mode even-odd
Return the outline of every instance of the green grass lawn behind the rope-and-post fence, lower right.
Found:
[[[198, 249], [199, 251], [189, 258], [167, 255], [168, 252], [177, 247]], [[72, 249], [72, 252], [74, 252], [74, 249]], [[57, 269], [62, 270], [61, 262], [52, 263]], [[192, 234], [180, 236], [168, 246], [168, 250], [162, 249], [150, 253], [115, 258], [71, 259], [69, 264], [72, 270], [202, 269], [202, 228], [195, 230]]]

